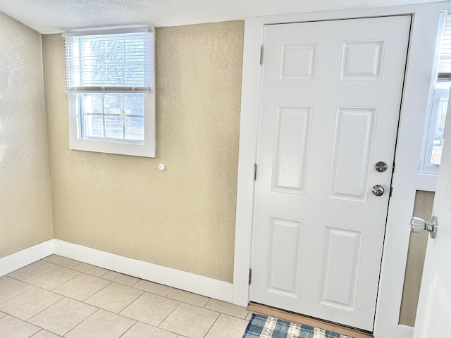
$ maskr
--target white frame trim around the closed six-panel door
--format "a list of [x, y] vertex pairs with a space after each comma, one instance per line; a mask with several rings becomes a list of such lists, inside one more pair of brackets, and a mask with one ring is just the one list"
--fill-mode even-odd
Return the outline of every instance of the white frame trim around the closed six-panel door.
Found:
[[419, 163], [433, 68], [435, 36], [441, 10], [451, 11], [451, 2], [366, 8], [352, 11], [298, 13], [245, 20], [233, 303], [247, 306], [249, 301], [248, 274], [252, 258], [254, 212], [253, 168], [257, 157], [261, 69], [259, 59], [264, 25], [387, 15], [412, 15], [412, 30], [404, 77], [400, 125], [398, 126], [393, 196], [388, 208], [373, 329], [375, 338], [397, 337], [404, 271], [409, 246], [408, 223], [413, 213], [416, 190], [433, 191], [435, 189], [436, 177], [419, 174]]

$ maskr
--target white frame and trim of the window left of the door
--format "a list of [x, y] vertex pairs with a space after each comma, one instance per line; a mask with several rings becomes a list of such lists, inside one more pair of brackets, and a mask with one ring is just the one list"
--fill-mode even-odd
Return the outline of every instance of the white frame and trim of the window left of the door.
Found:
[[[155, 91], [155, 36], [154, 27], [132, 27], [114, 30], [89, 30], [64, 33], [63, 37], [85, 35], [113, 35], [125, 33], [149, 32], [149, 69], [150, 90], [144, 94], [144, 141], [128, 141], [102, 137], [82, 137], [82, 104], [81, 97], [85, 93], [123, 93], [130, 94], [132, 90], [123, 87], [97, 89], [66, 90], [68, 94], [68, 133], [69, 149], [80, 151], [94, 151], [107, 154], [120, 154], [128, 156], [152, 157], [156, 156], [156, 91]], [[66, 51], [65, 51], [66, 53]], [[67, 70], [67, 64], [66, 64]]]

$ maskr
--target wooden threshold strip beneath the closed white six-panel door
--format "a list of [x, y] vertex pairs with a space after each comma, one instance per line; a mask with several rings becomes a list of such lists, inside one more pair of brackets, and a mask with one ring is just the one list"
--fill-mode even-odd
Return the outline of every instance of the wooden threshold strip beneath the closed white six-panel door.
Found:
[[247, 310], [261, 313], [263, 315], [270, 315], [271, 317], [288, 320], [290, 322], [305, 324], [313, 327], [320, 327], [323, 330], [337, 332], [339, 334], [350, 336], [352, 338], [374, 338], [373, 334], [371, 333], [352, 329], [350, 327], [340, 326], [333, 323], [323, 322], [319, 319], [305, 317], [304, 315], [298, 315], [297, 313], [283, 311], [278, 308], [271, 308], [270, 306], [265, 306], [259, 303], [249, 303]]

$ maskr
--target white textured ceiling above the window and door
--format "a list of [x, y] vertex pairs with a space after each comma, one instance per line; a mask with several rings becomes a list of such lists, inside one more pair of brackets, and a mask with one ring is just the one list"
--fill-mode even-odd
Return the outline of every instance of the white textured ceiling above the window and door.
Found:
[[156, 27], [261, 15], [419, 4], [437, 0], [0, 0], [0, 11], [43, 34], [123, 25]]

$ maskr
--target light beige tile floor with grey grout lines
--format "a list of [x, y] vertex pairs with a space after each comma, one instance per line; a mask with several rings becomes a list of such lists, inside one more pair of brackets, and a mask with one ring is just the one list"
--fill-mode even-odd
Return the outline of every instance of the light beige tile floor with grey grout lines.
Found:
[[251, 315], [56, 255], [0, 277], [0, 338], [241, 338]]

